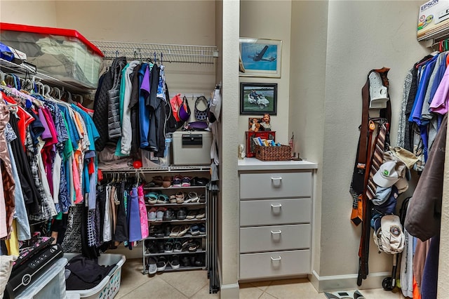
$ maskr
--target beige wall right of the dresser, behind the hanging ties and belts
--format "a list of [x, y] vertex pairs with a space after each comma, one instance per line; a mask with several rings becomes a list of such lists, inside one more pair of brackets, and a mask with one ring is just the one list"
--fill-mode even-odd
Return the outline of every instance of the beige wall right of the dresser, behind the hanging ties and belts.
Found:
[[[300, 2], [293, 5], [292, 11], [292, 27], [299, 27], [292, 29], [297, 72], [292, 69], [290, 73], [290, 95], [299, 94], [305, 102], [290, 101], [290, 126], [303, 129], [297, 140], [302, 155], [311, 160], [316, 157], [319, 163], [316, 286], [355, 288], [361, 227], [349, 220], [349, 185], [361, 122], [361, 88], [370, 69], [391, 68], [391, 143], [395, 145], [406, 72], [428, 52], [416, 40], [417, 12], [422, 1]], [[325, 36], [327, 42], [323, 45], [321, 38]], [[322, 54], [326, 58], [319, 59]], [[294, 118], [297, 114], [300, 117]], [[379, 255], [373, 242], [371, 245], [371, 275], [362, 287], [379, 288], [380, 280], [391, 272], [391, 255]], [[333, 281], [333, 276], [347, 281]]]

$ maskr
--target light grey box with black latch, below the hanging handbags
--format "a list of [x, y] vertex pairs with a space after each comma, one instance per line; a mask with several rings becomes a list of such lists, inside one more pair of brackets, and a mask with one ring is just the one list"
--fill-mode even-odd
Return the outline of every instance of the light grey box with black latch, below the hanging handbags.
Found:
[[174, 165], [209, 165], [212, 133], [176, 131], [173, 133]]

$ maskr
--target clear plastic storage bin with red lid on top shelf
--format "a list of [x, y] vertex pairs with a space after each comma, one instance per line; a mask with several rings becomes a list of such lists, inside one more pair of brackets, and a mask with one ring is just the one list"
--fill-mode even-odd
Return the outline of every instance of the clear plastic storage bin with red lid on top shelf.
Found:
[[67, 84], [97, 88], [102, 52], [76, 30], [0, 23], [0, 40], [27, 55], [38, 72]]

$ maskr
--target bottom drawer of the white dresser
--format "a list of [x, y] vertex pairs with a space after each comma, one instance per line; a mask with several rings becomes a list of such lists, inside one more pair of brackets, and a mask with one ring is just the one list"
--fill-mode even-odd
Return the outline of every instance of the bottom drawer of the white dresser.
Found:
[[310, 251], [275, 251], [240, 255], [240, 279], [309, 274]]

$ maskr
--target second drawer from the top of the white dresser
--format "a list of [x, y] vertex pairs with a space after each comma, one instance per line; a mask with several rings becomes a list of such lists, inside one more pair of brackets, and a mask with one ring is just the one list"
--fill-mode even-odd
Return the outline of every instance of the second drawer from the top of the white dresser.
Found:
[[311, 222], [311, 199], [240, 201], [240, 226]]

